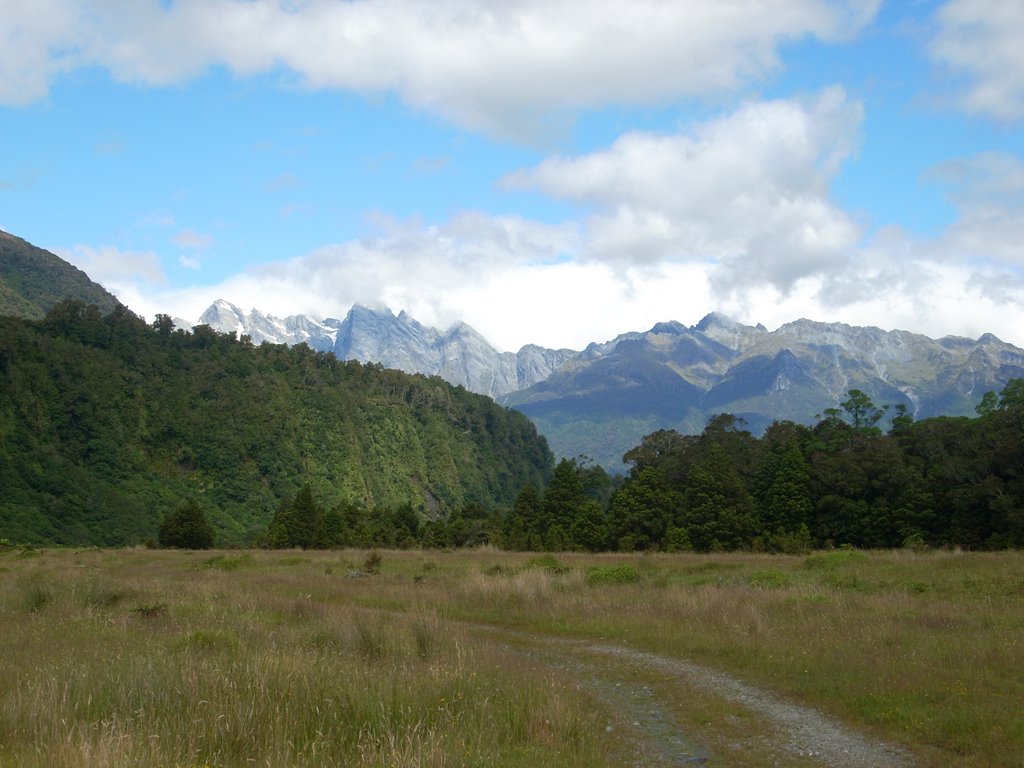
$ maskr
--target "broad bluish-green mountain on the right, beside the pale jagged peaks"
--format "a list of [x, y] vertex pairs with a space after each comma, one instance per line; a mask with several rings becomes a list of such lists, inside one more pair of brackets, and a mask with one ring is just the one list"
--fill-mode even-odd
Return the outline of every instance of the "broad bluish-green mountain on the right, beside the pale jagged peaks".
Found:
[[850, 389], [918, 418], [973, 414], [986, 391], [1024, 376], [1024, 350], [994, 336], [930, 339], [801, 319], [777, 331], [711, 314], [591, 345], [547, 381], [503, 398], [529, 416], [556, 455], [606, 467], [656, 429], [699, 432], [714, 414], [759, 433], [813, 423]]

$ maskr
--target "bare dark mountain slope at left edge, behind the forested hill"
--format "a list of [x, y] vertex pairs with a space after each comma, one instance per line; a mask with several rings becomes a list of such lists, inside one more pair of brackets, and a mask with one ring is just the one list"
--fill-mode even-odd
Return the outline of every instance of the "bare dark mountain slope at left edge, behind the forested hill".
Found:
[[63, 299], [95, 304], [103, 312], [119, 304], [81, 269], [0, 230], [0, 314], [39, 319]]

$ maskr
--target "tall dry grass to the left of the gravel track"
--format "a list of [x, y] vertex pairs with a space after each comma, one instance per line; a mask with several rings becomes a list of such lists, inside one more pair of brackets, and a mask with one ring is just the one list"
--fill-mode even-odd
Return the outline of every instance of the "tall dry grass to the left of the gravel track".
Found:
[[554, 673], [359, 607], [323, 561], [223, 562], [0, 561], [0, 765], [608, 764], [600, 713]]

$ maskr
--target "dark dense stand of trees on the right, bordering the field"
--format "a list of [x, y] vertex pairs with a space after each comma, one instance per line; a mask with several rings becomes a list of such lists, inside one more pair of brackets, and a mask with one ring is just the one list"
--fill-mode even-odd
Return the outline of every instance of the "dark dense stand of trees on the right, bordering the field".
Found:
[[[1024, 380], [986, 393], [978, 417], [915, 422], [851, 390], [814, 426], [761, 438], [735, 417], [699, 435], [663, 430], [609, 480], [563, 461], [504, 525], [513, 549], [761, 550], [1024, 545]], [[602, 494], [601, 488], [604, 488]], [[609, 495], [610, 494], [610, 495]], [[601, 497], [607, 502], [602, 505]]]

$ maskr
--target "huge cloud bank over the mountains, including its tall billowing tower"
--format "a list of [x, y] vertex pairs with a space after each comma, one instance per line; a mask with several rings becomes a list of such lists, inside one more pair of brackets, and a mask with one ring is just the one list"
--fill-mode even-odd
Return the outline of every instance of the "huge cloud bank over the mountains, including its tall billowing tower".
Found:
[[[896, 227], [865, 239], [829, 198], [861, 121], [861, 105], [836, 88], [749, 102], [504, 180], [584, 206], [580, 221], [377, 214], [369, 237], [216, 286], [136, 283], [119, 296], [193, 321], [217, 298], [318, 317], [383, 304], [439, 328], [466, 321], [505, 349], [580, 348], [712, 310], [769, 327], [807, 316], [933, 336], [1024, 329], [1024, 163], [1004, 154], [946, 163], [929, 179], [959, 209], [954, 225], [931, 239]], [[1024, 344], [1021, 332], [1001, 335]]]

